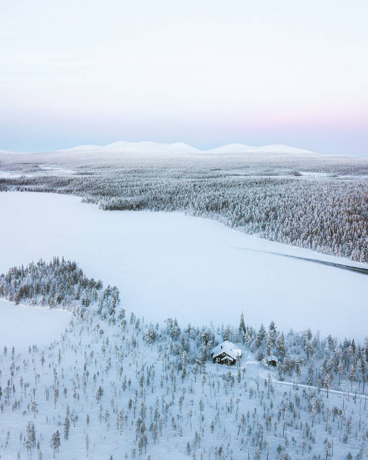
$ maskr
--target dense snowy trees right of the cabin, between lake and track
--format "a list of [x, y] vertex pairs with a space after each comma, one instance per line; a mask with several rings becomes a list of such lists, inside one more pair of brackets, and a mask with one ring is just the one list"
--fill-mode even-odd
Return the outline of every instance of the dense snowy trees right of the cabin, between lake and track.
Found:
[[[327, 397], [330, 388], [345, 388], [350, 392], [364, 393], [368, 379], [368, 338], [364, 343], [353, 339], [338, 341], [331, 334], [321, 338], [310, 329], [302, 332], [293, 330], [284, 334], [279, 332], [274, 321], [268, 331], [261, 324], [258, 331], [245, 326], [241, 314], [239, 329], [223, 330], [223, 336], [232, 334], [235, 340], [241, 340], [244, 346], [255, 353], [264, 363], [265, 357], [278, 357], [277, 372], [279, 379], [287, 376], [295, 382], [325, 388]], [[285, 377], [286, 376], [286, 377]]]

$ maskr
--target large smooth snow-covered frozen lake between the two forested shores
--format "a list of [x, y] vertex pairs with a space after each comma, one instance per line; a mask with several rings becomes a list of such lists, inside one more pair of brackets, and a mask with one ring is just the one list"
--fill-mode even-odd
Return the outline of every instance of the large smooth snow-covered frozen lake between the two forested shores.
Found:
[[64, 256], [88, 277], [117, 285], [128, 312], [149, 321], [237, 327], [243, 311], [257, 328], [274, 320], [284, 331], [366, 335], [366, 275], [254, 250], [348, 260], [181, 214], [100, 211], [73, 196], [3, 192], [0, 213], [0, 273]]

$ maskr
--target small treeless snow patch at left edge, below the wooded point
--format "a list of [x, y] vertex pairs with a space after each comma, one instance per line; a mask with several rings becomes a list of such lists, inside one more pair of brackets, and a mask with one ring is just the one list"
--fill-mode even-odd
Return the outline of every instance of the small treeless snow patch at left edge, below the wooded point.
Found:
[[0, 299], [0, 350], [12, 347], [24, 352], [28, 347], [47, 347], [57, 340], [71, 319], [71, 313], [30, 305], [14, 305]]

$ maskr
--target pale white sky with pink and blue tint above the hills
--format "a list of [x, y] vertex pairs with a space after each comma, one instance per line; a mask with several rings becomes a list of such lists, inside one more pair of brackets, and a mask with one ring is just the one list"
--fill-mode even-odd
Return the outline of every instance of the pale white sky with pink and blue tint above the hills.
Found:
[[2, 0], [0, 149], [368, 156], [366, 0]]

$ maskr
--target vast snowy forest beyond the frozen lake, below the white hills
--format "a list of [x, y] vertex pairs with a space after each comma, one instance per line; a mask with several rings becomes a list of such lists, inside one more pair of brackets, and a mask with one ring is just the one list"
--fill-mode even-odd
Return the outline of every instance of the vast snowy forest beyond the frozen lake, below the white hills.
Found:
[[[50, 166], [67, 174], [47, 174]], [[81, 196], [103, 210], [180, 211], [326, 254], [368, 261], [368, 162], [349, 157], [119, 155], [3, 157], [0, 190]], [[59, 171], [59, 172], [60, 172]]]

